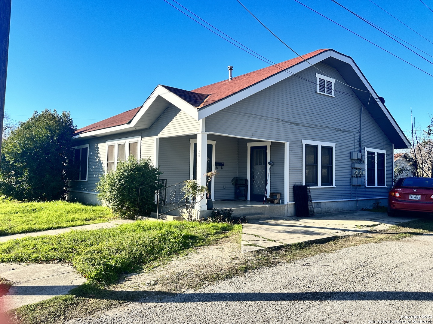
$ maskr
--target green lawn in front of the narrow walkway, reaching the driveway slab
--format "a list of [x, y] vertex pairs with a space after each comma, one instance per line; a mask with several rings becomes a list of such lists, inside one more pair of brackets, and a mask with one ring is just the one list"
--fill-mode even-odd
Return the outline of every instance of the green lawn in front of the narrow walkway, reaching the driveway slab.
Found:
[[113, 283], [123, 273], [216, 238], [241, 225], [137, 221], [110, 229], [10, 240], [0, 244], [0, 262], [68, 262], [90, 283]]

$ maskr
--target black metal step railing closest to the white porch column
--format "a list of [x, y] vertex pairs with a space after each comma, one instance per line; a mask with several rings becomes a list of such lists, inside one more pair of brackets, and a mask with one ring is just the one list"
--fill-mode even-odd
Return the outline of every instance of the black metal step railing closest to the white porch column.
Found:
[[184, 181], [181, 181], [155, 191], [157, 219], [166, 213], [187, 206], [187, 199], [182, 191], [183, 187]]

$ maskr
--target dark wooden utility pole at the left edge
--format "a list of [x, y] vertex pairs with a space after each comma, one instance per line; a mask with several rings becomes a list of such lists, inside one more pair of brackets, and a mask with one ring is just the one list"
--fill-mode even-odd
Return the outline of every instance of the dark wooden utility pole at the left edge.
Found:
[[7, 54], [9, 52], [11, 1], [12, 0], [0, 1], [0, 154], [3, 142], [4, 99], [6, 96]]

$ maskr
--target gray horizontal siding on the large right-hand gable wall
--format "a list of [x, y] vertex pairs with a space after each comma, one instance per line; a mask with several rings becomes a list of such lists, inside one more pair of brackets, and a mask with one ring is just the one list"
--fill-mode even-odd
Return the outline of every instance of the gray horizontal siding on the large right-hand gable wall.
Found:
[[[318, 67], [327, 75], [343, 80], [333, 67], [325, 64], [318, 64]], [[312, 188], [313, 200], [353, 199], [356, 195], [385, 197], [388, 188], [358, 186], [355, 191], [350, 185], [349, 154], [352, 150], [359, 151], [361, 102], [350, 87], [338, 82], [335, 89], [339, 92], [335, 93], [335, 98], [316, 93], [316, 72], [313, 67], [307, 68], [298, 73], [301, 78], [291, 76], [207, 117], [206, 131], [290, 142], [290, 201], [293, 201], [292, 186], [302, 183], [302, 140], [336, 143], [336, 187]], [[391, 142], [364, 109], [362, 152], [365, 146], [386, 149], [388, 156], [392, 155]], [[239, 143], [239, 149], [241, 147]], [[388, 186], [391, 177], [392, 160], [389, 158]]]

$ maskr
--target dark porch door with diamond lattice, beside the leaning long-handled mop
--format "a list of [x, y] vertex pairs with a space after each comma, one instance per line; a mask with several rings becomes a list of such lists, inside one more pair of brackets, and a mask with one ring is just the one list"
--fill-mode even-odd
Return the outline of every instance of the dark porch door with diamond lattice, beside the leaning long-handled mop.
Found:
[[251, 146], [249, 200], [263, 201], [266, 193], [267, 146]]

